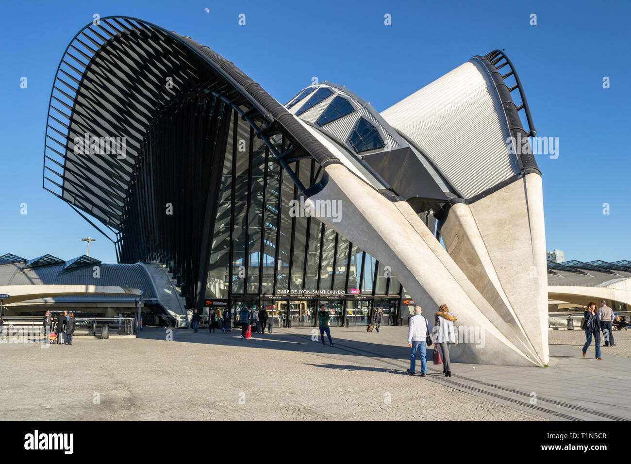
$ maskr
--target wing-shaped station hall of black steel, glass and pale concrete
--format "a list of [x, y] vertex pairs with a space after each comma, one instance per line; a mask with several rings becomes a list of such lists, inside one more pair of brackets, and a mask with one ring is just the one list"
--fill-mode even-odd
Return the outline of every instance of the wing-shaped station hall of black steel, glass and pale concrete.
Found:
[[[327, 81], [283, 106], [191, 38], [112, 16], [83, 28], [62, 56], [43, 182], [114, 242], [119, 262], [167, 264], [188, 306], [312, 290], [400, 299], [404, 286], [427, 311], [447, 297], [464, 324], [486, 326], [485, 353], [541, 365], [534, 134], [500, 51], [381, 114]], [[525, 139], [517, 152], [511, 138]], [[298, 199], [339, 202], [345, 217], [296, 215]], [[380, 275], [386, 268], [394, 275]]]

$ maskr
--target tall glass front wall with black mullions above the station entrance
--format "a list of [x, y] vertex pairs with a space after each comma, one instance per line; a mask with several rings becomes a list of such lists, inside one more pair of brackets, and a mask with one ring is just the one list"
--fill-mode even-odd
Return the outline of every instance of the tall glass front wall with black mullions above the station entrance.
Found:
[[[235, 113], [221, 172], [206, 299], [273, 315], [274, 326], [315, 326], [319, 306], [331, 325], [369, 323], [375, 302], [384, 324], [398, 320], [401, 286], [389, 268], [315, 217], [290, 214], [298, 189], [251, 126]], [[288, 141], [271, 138], [279, 152]], [[321, 176], [312, 158], [290, 163], [305, 185]]]

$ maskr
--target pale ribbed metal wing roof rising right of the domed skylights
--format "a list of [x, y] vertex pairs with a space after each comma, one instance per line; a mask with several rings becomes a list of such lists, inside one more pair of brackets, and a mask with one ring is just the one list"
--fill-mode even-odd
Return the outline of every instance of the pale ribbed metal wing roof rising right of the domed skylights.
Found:
[[520, 174], [508, 122], [486, 68], [470, 60], [381, 116], [427, 153], [465, 198]]

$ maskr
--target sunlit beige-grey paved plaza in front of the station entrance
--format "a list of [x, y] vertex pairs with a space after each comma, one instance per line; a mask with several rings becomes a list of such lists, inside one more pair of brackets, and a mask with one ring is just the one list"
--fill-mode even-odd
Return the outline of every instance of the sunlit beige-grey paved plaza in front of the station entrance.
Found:
[[167, 341], [146, 328], [135, 340], [0, 345], [2, 418], [631, 419], [631, 331], [601, 361], [593, 348], [581, 356], [581, 331], [555, 331], [550, 367], [454, 364], [452, 378], [431, 362], [426, 378], [406, 374], [406, 327], [333, 328], [335, 347], [310, 328], [239, 334], [174, 330]]

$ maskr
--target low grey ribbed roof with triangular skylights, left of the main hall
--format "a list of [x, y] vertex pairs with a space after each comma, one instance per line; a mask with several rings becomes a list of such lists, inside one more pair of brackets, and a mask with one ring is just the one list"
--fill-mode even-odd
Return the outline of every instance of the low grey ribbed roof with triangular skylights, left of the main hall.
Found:
[[101, 264], [100, 277], [92, 267], [62, 271], [63, 265], [23, 269], [19, 263], [0, 265], [0, 287], [3, 285], [105, 285], [143, 290], [143, 299], [156, 298], [151, 277], [138, 264]]

